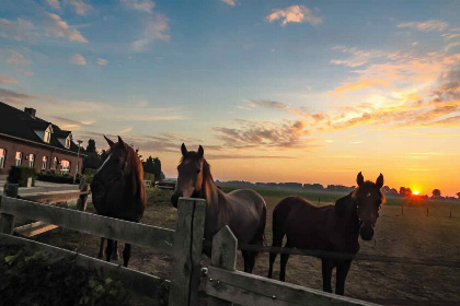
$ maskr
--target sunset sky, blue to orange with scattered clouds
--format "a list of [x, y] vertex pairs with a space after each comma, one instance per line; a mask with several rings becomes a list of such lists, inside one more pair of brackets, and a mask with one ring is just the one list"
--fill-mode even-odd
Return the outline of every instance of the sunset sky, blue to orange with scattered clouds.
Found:
[[460, 1], [2, 0], [0, 101], [176, 176], [460, 192]]

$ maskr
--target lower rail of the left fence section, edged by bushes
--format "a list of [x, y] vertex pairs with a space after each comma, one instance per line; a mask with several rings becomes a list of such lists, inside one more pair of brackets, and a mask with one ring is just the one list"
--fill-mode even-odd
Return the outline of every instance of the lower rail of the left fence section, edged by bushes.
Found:
[[168, 296], [170, 281], [135, 271], [122, 266], [102, 261], [89, 256], [45, 245], [34, 240], [0, 234], [0, 246], [20, 246], [30, 251], [43, 251], [49, 256], [74, 259], [76, 264], [93, 270], [101, 278], [111, 278], [122, 281], [133, 291], [151, 298], [164, 298]]

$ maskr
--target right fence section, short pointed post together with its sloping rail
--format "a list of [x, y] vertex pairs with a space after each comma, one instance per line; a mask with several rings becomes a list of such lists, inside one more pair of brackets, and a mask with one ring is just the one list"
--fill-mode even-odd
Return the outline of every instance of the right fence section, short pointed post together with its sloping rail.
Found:
[[212, 238], [212, 267], [206, 283], [206, 293], [212, 297], [211, 306], [231, 303], [243, 306], [377, 305], [235, 271], [237, 249], [238, 240], [228, 226]]

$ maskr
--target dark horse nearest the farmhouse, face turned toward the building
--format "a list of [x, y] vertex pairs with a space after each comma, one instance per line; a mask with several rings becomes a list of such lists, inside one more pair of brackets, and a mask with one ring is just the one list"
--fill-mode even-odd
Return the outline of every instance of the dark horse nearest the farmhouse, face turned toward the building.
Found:
[[[110, 149], [107, 157], [91, 183], [93, 205], [97, 214], [130, 222], [139, 222], [147, 205], [142, 164], [136, 151], [120, 137], [114, 143], [104, 136]], [[101, 238], [99, 258], [104, 257], [105, 238]], [[107, 239], [106, 260], [114, 254], [118, 259], [118, 243]], [[125, 244], [123, 263], [128, 267], [131, 245]]]

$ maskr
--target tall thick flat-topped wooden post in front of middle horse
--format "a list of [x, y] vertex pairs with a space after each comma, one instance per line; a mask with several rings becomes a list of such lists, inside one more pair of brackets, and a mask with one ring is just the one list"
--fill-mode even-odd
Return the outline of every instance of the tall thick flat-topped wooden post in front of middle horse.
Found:
[[206, 201], [179, 199], [170, 285], [170, 306], [197, 306], [202, 276]]

